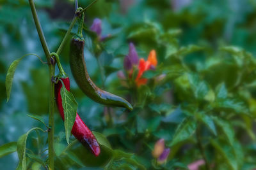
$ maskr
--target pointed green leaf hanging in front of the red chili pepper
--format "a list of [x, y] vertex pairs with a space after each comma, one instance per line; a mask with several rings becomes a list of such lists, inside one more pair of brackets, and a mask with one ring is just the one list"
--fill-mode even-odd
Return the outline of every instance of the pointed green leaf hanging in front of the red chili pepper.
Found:
[[76, 120], [77, 103], [71, 92], [68, 92], [65, 85], [60, 89], [62, 106], [64, 111], [64, 125], [67, 143], [69, 144], [70, 133]]

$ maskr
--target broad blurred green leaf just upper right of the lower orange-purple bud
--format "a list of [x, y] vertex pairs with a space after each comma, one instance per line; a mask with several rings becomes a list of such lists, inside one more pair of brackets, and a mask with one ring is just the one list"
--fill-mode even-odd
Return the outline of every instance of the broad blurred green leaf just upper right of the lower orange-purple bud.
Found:
[[191, 120], [191, 118], [185, 118], [183, 122], [177, 127], [170, 146], [190, 138], [195, 133], [195, 130], [195, 120]]

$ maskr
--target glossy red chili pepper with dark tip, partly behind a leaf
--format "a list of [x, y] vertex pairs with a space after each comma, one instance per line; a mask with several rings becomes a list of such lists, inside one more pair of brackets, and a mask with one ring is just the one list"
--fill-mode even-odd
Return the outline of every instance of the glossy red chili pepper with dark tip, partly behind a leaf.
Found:
[[[60, 78], [63, 81], [63, 84], [65, 85], [66, 89], [70, 90], [70, 82], [69, 78], [67, 76], [63, 76], [63, 78]], [[60, 89], [62, 87], [61, 81], [58, 81], [55, 85], [55, 97], [56, 97], [56, 103], [58, 106], [58, 110], [60, 111], [61, 118], [64, 120], [64, 111], [62, 106], [62, 99], [60, 94]], [[97, 157], [100, 154], [100, 146], [97, 142], [97, 139], [93, 135], [93, 133], [90, 131], [90, 129], [84, 124], [83, 120], [79, 117], [79, 115], [76, 113], [76, 120], [74, 122], [74, 125], [72, 127], [72, 134], [77, 138], [78, 141], [80, 141], [84, 146], [90, 148], [92, 153]]]

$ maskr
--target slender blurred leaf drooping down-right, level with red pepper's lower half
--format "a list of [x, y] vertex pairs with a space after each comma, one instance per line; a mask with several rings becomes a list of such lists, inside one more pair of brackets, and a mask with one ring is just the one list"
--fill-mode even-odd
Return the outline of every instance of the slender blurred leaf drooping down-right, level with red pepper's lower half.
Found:
[[232, 126], [225, 120], [221, 120], [220, 118], [217, 118], [217, 117], [212, 117], [212, 118], [213, 118], [214, 122], [222, 129], [225, 136], [227, 136], [230, 145], [233, 145], [234, 138], [235, 138], [235, 132], [234, 132], [234, 129], [232, 128]]

